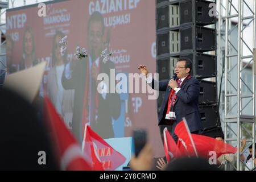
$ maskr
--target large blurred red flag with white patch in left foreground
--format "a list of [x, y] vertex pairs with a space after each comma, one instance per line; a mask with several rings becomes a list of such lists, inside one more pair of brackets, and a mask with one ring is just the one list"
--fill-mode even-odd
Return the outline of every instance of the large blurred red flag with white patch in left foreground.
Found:
[[44, 112], [61, 169], [67, 171], [90, 171], [92, 169], [91, 165], [82, 152], [80, 144], [67, 129], [63, 119], [57, 114], [47, 96], [44, 97]]

